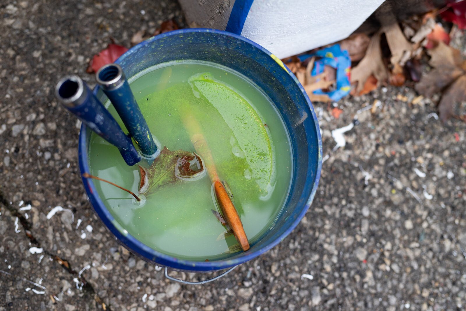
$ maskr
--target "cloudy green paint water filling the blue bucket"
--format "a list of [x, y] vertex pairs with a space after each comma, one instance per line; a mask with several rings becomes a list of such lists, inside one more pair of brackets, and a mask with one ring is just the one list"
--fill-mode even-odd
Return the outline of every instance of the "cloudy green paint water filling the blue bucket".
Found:
[[[244, 76], [206, 62], [164, 63], [133, 77], [130, 86], [162, 147], [194, 152], [182, 116], [198, 120], [254, 244], [281, 211], [292, 175], [288, 134], [267, 96]], [[126, 131], [111, 104], [109, 111]], [[94, 133], [89, 167], [137, 193], [137, 166], [126, 166], [117, 149]], [[160, 187], [143, 204], [107, 183], [95, 185], [120, 227], [151, 248], [198, 261], [231, 256], [228, 249], [237, 242], [233, 235], [222, 238], [225, 228], [212, 214], [219, 208], [207, 175]]]

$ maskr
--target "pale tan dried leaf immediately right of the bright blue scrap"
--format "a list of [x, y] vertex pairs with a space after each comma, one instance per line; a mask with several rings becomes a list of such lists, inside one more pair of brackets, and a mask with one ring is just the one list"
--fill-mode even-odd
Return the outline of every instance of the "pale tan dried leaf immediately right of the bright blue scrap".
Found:
[[357, 83], [356, 94], [364, 89], [364, 84], [370, 76], [374, 76], [377, 83], [386, 81], [388, 78], [387, 69], [382, 59], [382, 49], [380, 48], [379, 31], [370, 38], [369, 46], [361, 62], [351, 70], [351, 83]]

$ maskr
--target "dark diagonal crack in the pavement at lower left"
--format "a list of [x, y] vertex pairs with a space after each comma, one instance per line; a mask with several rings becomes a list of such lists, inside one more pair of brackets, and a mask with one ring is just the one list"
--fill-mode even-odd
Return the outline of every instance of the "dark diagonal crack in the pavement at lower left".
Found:
[[[31, 244], [35, 245], [38, 248], [41, 248], [41, 243], [34, 237], [34, 235], [31, 232], [31, 224], [29, 223], [29, 221], [27, 221], [27, 219], [24, 217], [24, 215], [21, 214], [15, 207], [13, 207], [10, 204], [10, 202], [5, 198], [5, 195], [4, 195], [4, 193], [3, 193], [3, 191], [1, 189], [0, 189], [0, 203], [2, 205], [4, 205], [7, 208], [7, 210], [10, 211], [10, 213], [14, 217], [18, 217], [18, 219], [19, 219], [19, 221], [21, 223], [21, 226], [23, 227], [24, 232], [26, 233], [26, 236], [29, 239], [29, 241], [31, 242]], [[82, 291], [85, 294], [92, 297], [96, 301], [96, 303], [98, 305], [101, 305], [102, 309], [104, 311], [111, 311], [110, 306], [106, 305], [103, 302], [102, 298], [99, 297], [99, 295], [97, 295], [96, 290], [94, 290], [94, 287], [90, 283], [88, 283], [88, 281], [86, 280], [86, 278], [84, 276], [78, 274], [71, 267], [71, 265], [69, 264], [69, 262], [67, 260], [60, 258], [59, 256], [49, 252], [46, 249], [44, 249], [43, 252], [44, 252], [44, 254], [50, 256], [50, 258], [55, 260], [57, 263], [59, 263], [63, 267], [63, 269], [65, 269], [69, 274], [71, 274], [72, 276], [75, 276], [79, 280], [79, 282], [82, 284], [82, 286], [81, 286]]]

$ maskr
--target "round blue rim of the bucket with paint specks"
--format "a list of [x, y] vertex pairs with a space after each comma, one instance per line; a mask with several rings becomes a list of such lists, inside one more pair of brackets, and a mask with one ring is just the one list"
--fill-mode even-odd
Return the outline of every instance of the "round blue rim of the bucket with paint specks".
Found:
[[[315, 193], [317, 191], [317, 187], [318, 187], [320, 176], [321, 176], [321, 170], [322, 170], [322, 138], [321, 138], [317, 116], [314, 111], [314, 107], [312, 106], [311, 101], [309, 100], [309, 97], [306, 94], [306, 91], [304, 90], [304, 88], [302, 87], [301, 83], [298, 81], [296, 76], [288, 69], [288, 67], [286, 67], [283, 64], [283, 62], [281, 62], [280, 59], [278, 59], [274, 54], [269, 52], [266, 48], [263, 48], [262, 46], [255, 43], [254, 41], [251, 41], [240, 35], [229, 33], [223, 30], [211, 29], [211, 28], [187, 28], [187, 29], [173, 30], [170, 32], [166, 32], [166, 33], [151, 37], [147, 39], [146, 41], [142, 41], [138, 43], [134, 47], [130, 48], [123, 55], [121, 55], [115, 61], [115, 63], [120, 64], [121, 62], [123, 62], [124, 59], [129, 57], [132, 53], [134, 53], [139, 48], [143, 48], [146, 45], [154, 43], [155, 41], [158, 41], [162, 38], [173, 36], [173, 35], [183, 35], [183, 34], [188, 34], [188, 33], [214, 33], [218, 35], [225, 35], [225, 36], [233, 37], [234, 39], [237, 39], [237, 40], [240, 40], [240, 41], [243, 41], [243, 42], [246, 42], [252, 45], [254, 48], [258, 49], [260, 52], [265, 53], [268, 56], [270, 56], [272, 59], [274, 59], [274, 61], [277, 63], [277, 66], [278, 66], [277, 70], [284, 69], [288, 73], [288, 75], [294, 80], [294, 82], [297, 84], [299, 89], [301, 90], [302, 95], [304, 96], [308, 104], [307, 106], [308, 106], [309, 111], [306, 111], [306, 112], [307, 113], [310, 112], [314, 119], [317, 144], [318, 144], [318, 150], [317, 150], [318, 158], [317, 158], [317, 170], [315, 173], [315, 178], [312, 181], [314, 183], [313, 187], [306, 201], [306, 204], [301, 208], [300, 214], [296, 217], [296, 219], [292, 222], [292, 224], [280, 236], [274, 239], [274, 241], [270, 242], [264, 247], [257, 249], [253, 252], [250, 252], [250, 251], [244, 252], [242, 256], [239, 256], [233, 259], [222, 259], [222, 260], [209, 261], [209, 262], [199, 262], [199, 261], [186, 260], [186, 259], [181, 259], [181, 258], [177, 258], [174, 256], [170, 256], [162, 252], [159, 252], [155, 249], [152, 249], [148, 245], [137, 240], [137, 238], [134, 237], [133, 235], [130, 235], [130, 233], [128, 233], [125, 229], [123, 229], [123, 227], [121, 227], [121, 225], [116, 221], [116, 219], [107, 209], [107, 207], [105, 207], [100, 196], [97, 194], [97, 190], [96, 190], [93, 180], [82, 177], [83, 173], [90, 173], [89, 172], [89, 159], [88, 159], [88, 146], [87, 146], [87, 143], [88, 143], [87, 131], [88, 130], [85, 124], [82, 124], [81, 131], [79, 134], [78, 156], [79, 156], [79, 167], [80, 167], [82, 182], [83, 182], [86, 194], [88, 195], [88, 198], [91, 202], [91, 206], [96, 212], [96, 214], [99, 216], [99, 218], [103, 221], [105, 226], [109, 228], [112, 234], [117, 237], [119, 242], [122, 242], [133, 253], [155, 264], [170, 267], [175, 270], [188, 270], [191, 272], [203, 272], [203, 271], [209, 272], [209, 271], [231, 268], [238, 264], [245, 263], [251, 259], [254, 259], [257, 256], [260, 256], [261, 254], [275, 247], [279, 242], [285, 239], [285, 237], [287, 237], [291, 233], [291, 231], [293, 231], [296, 228], [298, 223], [301, 221], [301, 219], [304, 217], [304, 215], [308, 211], [312, 201], [314, 200]], [[100, 87], [97, 85], [93, 90], [94, 94], [97, 95], [99, 90], [100, 90]]]

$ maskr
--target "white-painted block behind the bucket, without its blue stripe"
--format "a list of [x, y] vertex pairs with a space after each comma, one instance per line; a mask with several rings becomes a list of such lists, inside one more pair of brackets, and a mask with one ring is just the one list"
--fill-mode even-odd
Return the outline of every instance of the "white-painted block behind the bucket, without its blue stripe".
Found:
[[[224, 30], [234, 0], [179, 0], [190, 26]], [[279, 58], [340, 41], [384, 0], [254, 0], [241, 35]]]

